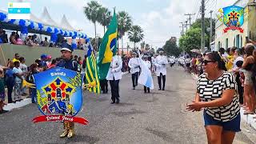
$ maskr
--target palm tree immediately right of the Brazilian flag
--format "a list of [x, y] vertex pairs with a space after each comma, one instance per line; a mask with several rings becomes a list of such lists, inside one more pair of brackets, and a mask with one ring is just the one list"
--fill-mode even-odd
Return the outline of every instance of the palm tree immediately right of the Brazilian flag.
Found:
[[120, 11], [117, 15], [118, 18], [118, 34], [120, 35], [122, 42], [122, 51], [123, 51], [123, 41], [122, 37], [126, 34], [128, 30], [130, 30], [130, 26], [132, 25], [131, 17], [125, 11]]

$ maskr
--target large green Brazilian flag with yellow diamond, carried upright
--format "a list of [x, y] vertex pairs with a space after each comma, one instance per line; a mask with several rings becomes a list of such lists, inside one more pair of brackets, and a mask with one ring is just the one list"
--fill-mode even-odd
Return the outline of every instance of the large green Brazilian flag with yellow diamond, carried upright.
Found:
[[98, 52], [98, 74], [99, 79], [105, 79], [110, 69], [110, 63], [112, 57], [117, 52], [117, 36], [118, 36], [118, 20], [115, 14], [110, 21], [110, 26], [106, 30], [104, 37], [102, 38], [101, 46]]

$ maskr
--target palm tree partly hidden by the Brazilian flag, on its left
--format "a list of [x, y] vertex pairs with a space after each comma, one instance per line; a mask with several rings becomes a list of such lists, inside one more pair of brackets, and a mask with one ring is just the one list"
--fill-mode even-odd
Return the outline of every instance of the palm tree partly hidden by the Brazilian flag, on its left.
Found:
[[104, 27], [104, 34], [105, 34], [105, 27], [109, 26], [111, 21], [111, 12], [106, 7], [101, 7], [99, 9], [100, 19], [99, 23]]

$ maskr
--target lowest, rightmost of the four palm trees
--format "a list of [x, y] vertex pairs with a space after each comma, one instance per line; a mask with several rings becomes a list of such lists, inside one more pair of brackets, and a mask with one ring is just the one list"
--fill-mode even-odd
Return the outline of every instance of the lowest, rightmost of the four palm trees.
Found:
[[141, 26], [135, 25], [131, 26], [129, 32], [128, 32], [128, 38], [130, 39], [130, 42], [134, 42], [134, 48], [137, 42], [141, 42], [144, 38], [143, 30]]

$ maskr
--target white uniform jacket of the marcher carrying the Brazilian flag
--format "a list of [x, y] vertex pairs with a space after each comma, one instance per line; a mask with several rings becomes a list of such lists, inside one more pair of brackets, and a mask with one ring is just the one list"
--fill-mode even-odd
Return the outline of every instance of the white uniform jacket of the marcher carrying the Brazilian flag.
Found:
[[118, 55], [115, 55], [112, 58], [110, 64], [110, 70], [106, 75], [106, 80], [118, 80], [122, 78], [122, 58]]

